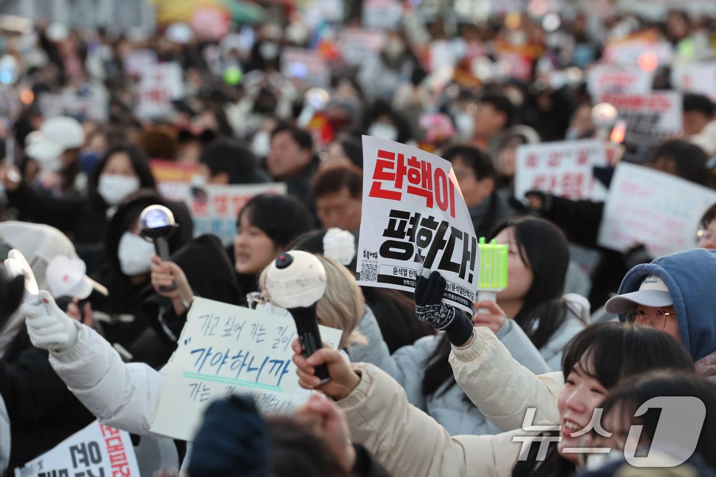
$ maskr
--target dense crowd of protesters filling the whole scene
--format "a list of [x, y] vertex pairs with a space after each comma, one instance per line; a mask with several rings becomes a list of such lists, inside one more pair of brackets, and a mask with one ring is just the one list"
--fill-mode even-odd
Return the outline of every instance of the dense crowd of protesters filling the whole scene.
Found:
[[[606, 476], [631, 475], [634, 458], [716, 475], [716, 203], [693, 244], [652, 256], [646, 240], [602, 246], [604, 201], [515, 194], [522, 145], [619, 146], [614, 121], [605, 134], [593, 114], [588, 77], [637, 40], [669, 50], [639, 68], [653, 73], [649, 90], [679, 91], [681, 132], [620, 146], [595, 180], [609, 189], [621, 158], [715, 189], [716, 77], [709, 97], [671, 72], [716, 61], [716, 17], [533, 0], [475, 20], [395, 3], [390, 28], [287, 5], [213, 36], [183, 23], [147, 35], [1, 19], [0, 256], [19, 250], [40, 291], [30, 303], [24, 277], [0, 276], [0, 471], [98, 419], [144, 448], [143, 476]], [[347, 32], [375, 42], [349, 48]], [[296, 50], [313, 55], [303, 69], [289, 63]], [[169, 66], [178, 84], [160, 77]], [[372, 174], [362, 135], [449, 161], [476, 236], [508, 248], [495, 301], [471, 315], [445, 304], [445, 277], [422, 267], [414, 293], [357, 284]], [[286, 193], [249, 198], [228, 244], [195, 233], [195, 210], [166, 192], [158, 161], [192, 171], [192, 201], [214, 186]], [[166, 256], [142, 236], [155, 205], [176, 223]], [[246, 396], [215, 400], [190, 442], [153, 433], [195, 297], [285, 313], [268, 270], [289, 251], [324, 268], [316, 319], [341, 331], [308, 357], [291, 344], [286, 379], [311, 393], [280, 416]], [[58, 284], [75, 275], [79, 288]], [[657, 397], [676, 407], [644, 408]], [[677, 398], [705, 417], [691, 423]], [[608, 458], [579, 451], [600, 446]]]

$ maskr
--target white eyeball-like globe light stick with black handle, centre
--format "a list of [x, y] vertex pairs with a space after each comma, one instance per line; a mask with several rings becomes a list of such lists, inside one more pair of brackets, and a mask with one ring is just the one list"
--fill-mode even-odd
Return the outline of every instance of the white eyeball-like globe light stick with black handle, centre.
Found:
[[[271, 302], [289, 310], [296, 322], [304, 357], [323, 347], [316, 318], [316, 302], [326, 291], [326, 270], [316, 256], [291, 250], [279, 255], [266, 275]], [[326, 365], [316, 367], [321, 384], [329, 380]]]

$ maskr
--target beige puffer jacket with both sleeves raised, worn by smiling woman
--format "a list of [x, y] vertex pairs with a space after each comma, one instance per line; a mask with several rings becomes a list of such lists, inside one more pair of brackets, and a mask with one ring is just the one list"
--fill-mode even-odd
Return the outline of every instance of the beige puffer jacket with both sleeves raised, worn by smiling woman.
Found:
[[538, 410], [533, 424], [559, 423], [556, 396], [563, 386], [561, 373], [534, 375], [513, 360], [486, 327], [475, 328], [468, 345], [453, 349], [450, 364], [470, 399], [487, 405], [483, 413], [495, 425], [516, 430], [451, 437], [429, 415], [408, 404], [405, 391], [392, 377], [373, 365], [357, 363], [353, 367], [361, 382], [337, 402], [347, 415], [351, 439], [370, 450], [395, 477], [511, 476], [523, 446], [522, 440], [513, 438], [534, 435], [521, 429], [526, 408]]

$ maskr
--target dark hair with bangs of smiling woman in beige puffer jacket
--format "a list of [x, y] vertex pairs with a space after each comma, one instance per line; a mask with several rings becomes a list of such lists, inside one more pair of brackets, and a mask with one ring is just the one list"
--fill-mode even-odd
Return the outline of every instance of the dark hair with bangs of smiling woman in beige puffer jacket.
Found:
[[[565, 380], [575, 367], [607, 390], [627, 377], [652, 370], [695, 372], [690, 355], [674, 337], [657, 329], [617, 322], [593, 324], [569, 342], [562, 358]], [[527, 458], [513, 468], [513, 477], [566, 477], [575, 471], [574, 463], [562, 458], [556, 445], [550, 446], [544, 461], [537, 460], [538, 450], [538, 445], [531, 446]]]

